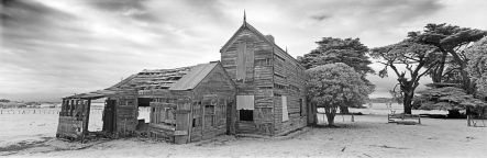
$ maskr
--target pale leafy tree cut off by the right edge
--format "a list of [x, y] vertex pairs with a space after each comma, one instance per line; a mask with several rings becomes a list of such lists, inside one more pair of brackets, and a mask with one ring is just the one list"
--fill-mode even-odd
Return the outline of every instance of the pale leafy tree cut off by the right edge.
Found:
[[466, 49], [467, 71], [472, 81], [477, 84], [478, 95], [487, 98], [487, 37]]

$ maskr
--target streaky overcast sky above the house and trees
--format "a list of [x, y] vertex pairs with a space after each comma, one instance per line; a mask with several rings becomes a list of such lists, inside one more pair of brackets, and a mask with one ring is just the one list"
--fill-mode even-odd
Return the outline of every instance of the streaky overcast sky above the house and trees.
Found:
[[[219, 60], [247, 22], [294, 57], [321, 37], [358, 37], [369, 48], [427, 23], [487, 30], [486, 0], [3, 0], [0, 98], [59, 101], [108, 88], [142, 69]], [[373, 66], [376, 70], [380, 65]], [[372, 97], [389, 97], [395, 76]], [[428, 82], [424, 78], [423, 82]]]

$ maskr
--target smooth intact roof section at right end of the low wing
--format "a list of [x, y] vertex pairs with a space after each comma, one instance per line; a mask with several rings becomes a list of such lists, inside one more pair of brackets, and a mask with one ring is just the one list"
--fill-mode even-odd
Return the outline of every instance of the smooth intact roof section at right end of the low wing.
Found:
[[189, 90], [198, 86], [204, 77], [210, 74], [211, 70], [218, 65], [218, 63], [200, 64], [191, 68], [191, 70], [174, 83], [169, 90]]

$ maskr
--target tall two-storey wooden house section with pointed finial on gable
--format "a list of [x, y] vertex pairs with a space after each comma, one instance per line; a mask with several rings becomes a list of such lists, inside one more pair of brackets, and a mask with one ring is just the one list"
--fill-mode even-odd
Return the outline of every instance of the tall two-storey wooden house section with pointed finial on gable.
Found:
[[220, 49], [237, 87], [236, 133], [279, 135], [307, 125], [305, 68], [245, 20]]

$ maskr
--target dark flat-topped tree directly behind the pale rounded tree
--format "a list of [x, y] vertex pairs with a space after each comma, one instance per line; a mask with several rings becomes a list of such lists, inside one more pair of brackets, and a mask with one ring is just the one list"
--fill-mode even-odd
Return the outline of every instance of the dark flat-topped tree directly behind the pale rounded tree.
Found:
[[[310, 69], [313, 67], [344, 63], [352, 67], [355, 71], [361, 74], [361, 79], [366, 84], [374, 89], [375, 86], [366, 79], [367, 74], [375, 74], [374, 69], [368, 65], [372, 61], [366, 54], [368, 53], [367, 46], [363, 45], [359, 38], [334, 38], [323, 37], [317, 42], [318, 47], [309, 54], [305, 54], [302, 57], [298, 57], [305, 68]], [[365, 100], [353, 102], [352, 106], [359, 106], [365, 103]], [[340, 108], [341, 113], [348, 113], [348, 106]]]

